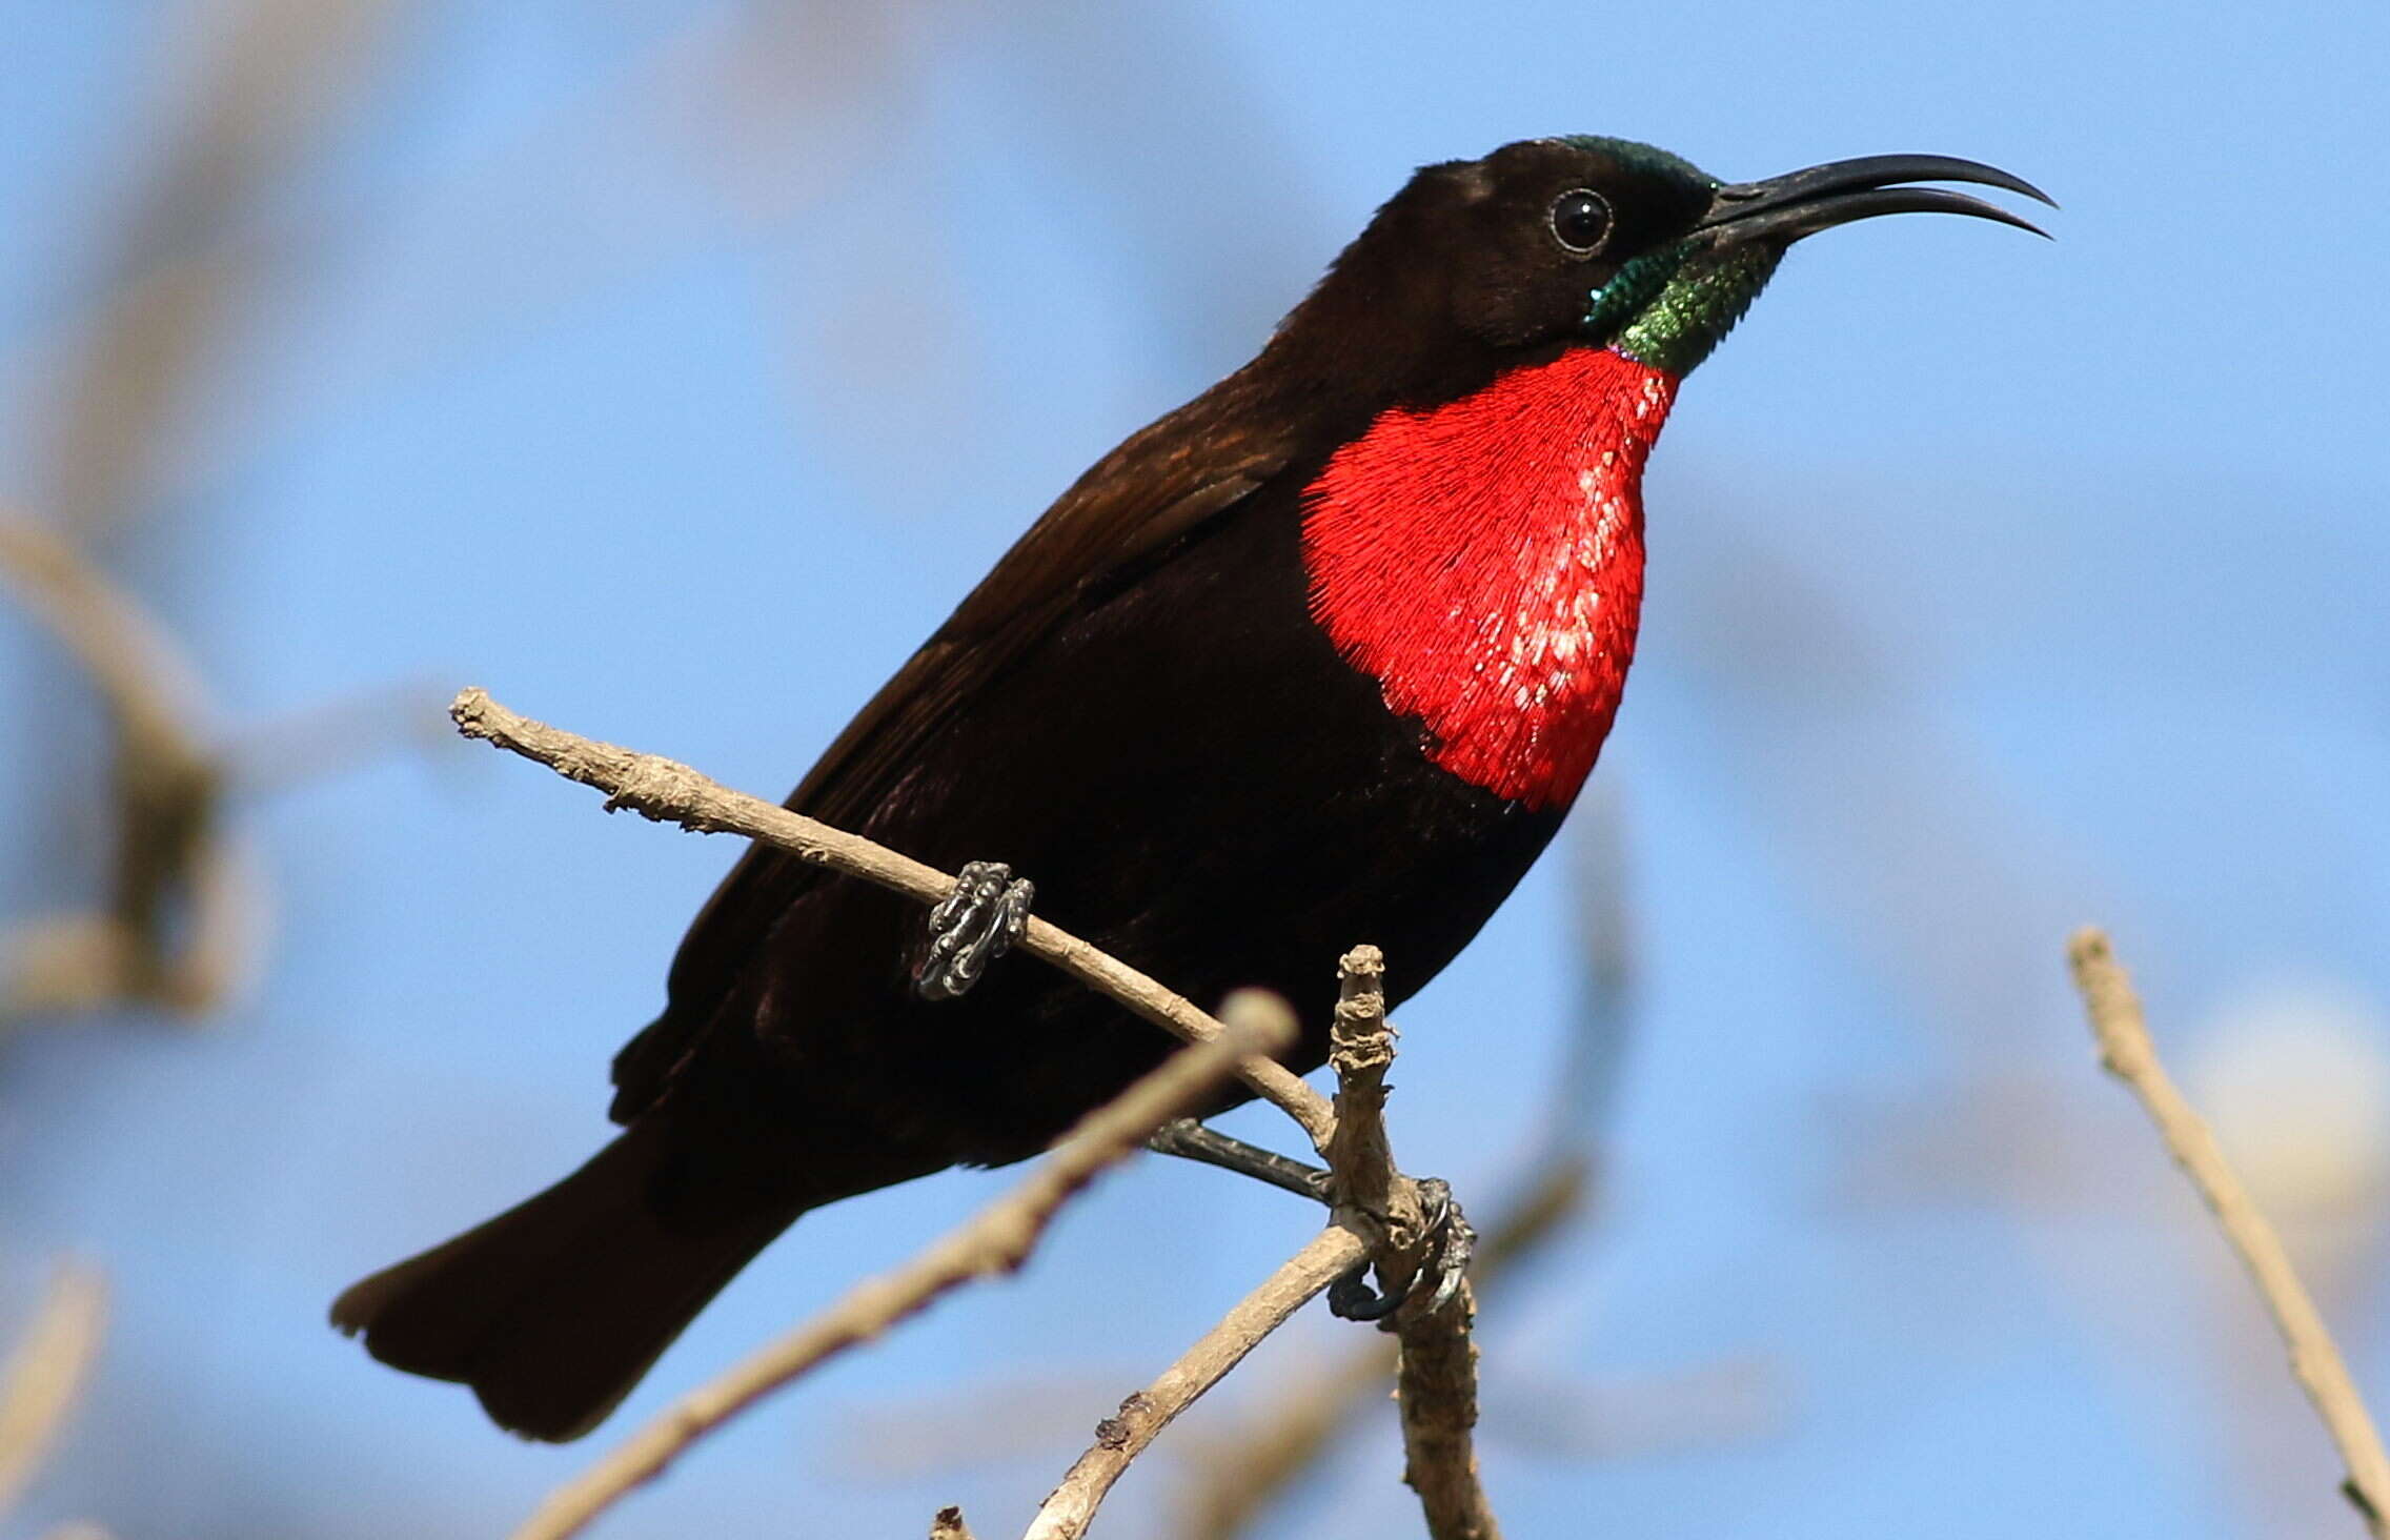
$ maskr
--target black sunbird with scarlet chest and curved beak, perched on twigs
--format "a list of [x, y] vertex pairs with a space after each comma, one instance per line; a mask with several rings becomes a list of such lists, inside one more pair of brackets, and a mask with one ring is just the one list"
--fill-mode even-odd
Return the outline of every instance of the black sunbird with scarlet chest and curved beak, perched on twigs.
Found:
[[[1028, 961], [1030, 904], [1193, 1000], [1434, 978], [1611, 732], [1675, 395], [1821, 230], [2048, 203], [1948, 155], [1721, 182], [1628, 139], [1420, 167], [1260, 354], [1087, 469], [791, 808], [961, 870], [906, 899], [748, 849], [617, 1055], [621, 1131], [332, 1308], [523, 1437], [593, 1430], [808, 1210], [1044, 1150], [1173, 1043]], [[1021, 873], [1021, 875], [1013, 875]], [[1205, 1112], [1243, 1100], [1219, 1093]]]

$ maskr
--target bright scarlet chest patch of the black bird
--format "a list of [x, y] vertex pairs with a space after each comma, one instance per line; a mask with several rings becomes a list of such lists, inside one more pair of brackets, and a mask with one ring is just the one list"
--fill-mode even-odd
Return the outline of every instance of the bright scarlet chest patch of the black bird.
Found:
[[1642, 615], [1642, 469], [1675, 375], [1570, 349], [1386, 411], [1305, 493], [1312, 617], [1427, 756], [1568, 803], [1618, 715]]

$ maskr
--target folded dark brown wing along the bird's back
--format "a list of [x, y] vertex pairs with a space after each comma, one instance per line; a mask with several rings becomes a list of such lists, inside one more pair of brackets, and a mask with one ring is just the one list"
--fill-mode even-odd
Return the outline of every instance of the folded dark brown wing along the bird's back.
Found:
[[[1291, 459], [1295, 430], [1257, 430], [1245, 375], [1231, 375], [1097, 462], [880, 686], [789, 794], [786, 806], [856, 830], [956, 710], [1111, 581], [1159, 560]], [[755, 847], [722, 880], [672, 961], [664, 1014], [614, 1059], [614, 1119], [664, 1090], [705, 1035], [774, 921], [822, 870]]]

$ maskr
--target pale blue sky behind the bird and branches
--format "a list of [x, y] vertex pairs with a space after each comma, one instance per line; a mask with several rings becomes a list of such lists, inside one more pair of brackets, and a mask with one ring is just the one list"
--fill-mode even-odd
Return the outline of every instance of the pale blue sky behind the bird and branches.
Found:
[[[1802, 246], [1654, 457], [1597, 775], [1632, 1047], [1599, 1222], [1487, 1320], [1489, 1480], [1525, 1535], [2345, 1523], [2060, 942], [2113, 925], [2184, 1055], [2235, 1000], [2323, 980], [2376, 1033], [2390, 992], [2376, 7], [351, 2], [320, 10], [356, 19], [335, 86], [246, 45], [249, 112], [289, 124], [263, 170], [143, 225], [241, 10], [0, 5], [0, 493], [69, 500], [62, 380], [122, 294], [229, 275], [110, 462], [108, 550], [234, 741], [392, 686], [435, 720], [476, 682], [765, 794], [1422, 160], [1597, 132], [1728, 177], [1934, 151], [2048, 187], [2055, 244], [1917, 218]], [[280, 10], [258, 36], [304, 53]], [[0, 660], [29, 746], [0, 899], [33, 913], [96, 880], [72, 777], [100, 741], [14, 610]], [[495, 1533], [602, 1440], [495, 1435], [323, 1308], [598, 1143], [605, 1059], [731, 851], [447, 744], [241, 823], [256, 990], [201, 1031], [24, 1033], [0, 1076], [0, 1303], [55, 1248], [117, 1279], [17, 1528]], [[1575, 890], [1546, 861], [1403, 1012], [1398, 1148], [1465, 1193], [1499, 1191], [1580, 1009]], [[808, 1217], [629, 1416], [997, 1184]], [[607, 1533], [908, 1533], [942, 1502], [1004, 1533], [1307, 1222], [1123, 1172], [1018, 1282]], [[2325, 1308], [2383, 1382], [2366, 1236]], [[1341, 1342], [1298, 1327], [1228, 1406]], [[1723, 1406], [1695, 1394], [1718, 1365], [1749, 1365]], [[1396, 1459], [1362, 1437], [1276, 1533], [1410, 1523]], [[1169, 1533], [1173, 1480], [1140, 1468], [1111, 1533]]]

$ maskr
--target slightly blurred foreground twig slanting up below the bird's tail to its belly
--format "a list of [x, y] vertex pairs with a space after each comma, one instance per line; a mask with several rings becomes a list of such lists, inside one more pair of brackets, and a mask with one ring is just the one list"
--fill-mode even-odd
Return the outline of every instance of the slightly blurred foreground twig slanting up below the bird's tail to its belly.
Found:
[[1286, 1004], [1243, 990], [1228, 997], [1226, 1021], [1209, 1043], [1171, 1055], [1159, 1069], [1109, 1105], [1080, 1119], [1078, 1129], [1030, 1172], [1021, 1186], [982, 1208], [968, 1224], [915, 1255], [901, 1270], [865, 1279], [829, 1310], [770, 1344], [674, 1404], [586, 1475], [559, 1487], [516, 1540], [562, 1540], [578, 1533], [633, 1487], [655, 1480], [691, 1442], [796, 1380], [832, 1353], [856, 1346], [913, 1315], [939, 1294], [975, 1277], [1013, 1272], [1035, 1251], [1054, 1212], [1104, 1167], [1116, 1165], [1145, 1138], [1214, 1086], [1236, 1074], [1238, 1059], [1279, 1052], [1295, 1028]]

